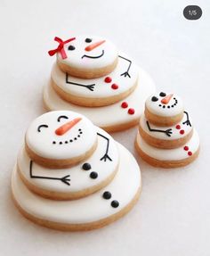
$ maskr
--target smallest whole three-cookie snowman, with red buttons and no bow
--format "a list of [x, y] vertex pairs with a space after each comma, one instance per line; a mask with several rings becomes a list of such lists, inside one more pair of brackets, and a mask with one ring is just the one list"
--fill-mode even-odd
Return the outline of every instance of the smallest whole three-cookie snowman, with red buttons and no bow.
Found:
[[149, 96], [135, 146], [143, 160], [157, 167], [181, 167], [197, 158], [198, 133], [178, 95]]

